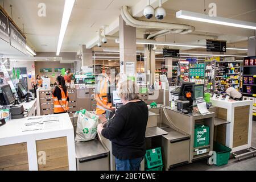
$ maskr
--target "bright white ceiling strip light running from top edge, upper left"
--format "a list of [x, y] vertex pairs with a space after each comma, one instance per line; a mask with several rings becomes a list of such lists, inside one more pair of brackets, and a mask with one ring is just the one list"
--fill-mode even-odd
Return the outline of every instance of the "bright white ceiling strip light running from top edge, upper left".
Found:
[[62, 17], [61, 27], [60, 27], [60, 35], [59, 35], [57, 53], [56, 53], [57, 56], [60, 55], [60, 49], [61, 49], [61, 46], [63, 43], [65, 32], [67, 30], [69, 18], [71, 16], [74, 3], [75, 3], [75, 0], [65, 0], [63, 17]]

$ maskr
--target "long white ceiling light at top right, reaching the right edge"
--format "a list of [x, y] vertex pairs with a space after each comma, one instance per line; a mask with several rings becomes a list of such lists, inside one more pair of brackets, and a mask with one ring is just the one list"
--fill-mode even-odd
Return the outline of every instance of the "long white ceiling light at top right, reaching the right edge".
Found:
[[218, 16], [211, 17], [209, 15], [194, 13], [191, 11], [184, 11], [184, 10], [177, 11], [176, 18], [183, 18], [183, 19], [195, 20], [199, 22], [214, 23], [214, 24], [221, 24], [225, 26], [249, 28], [249, 29], [256, 30], [256, 23], [253, 23], [253, 22], [245, 22], [241, 20], [222, 18]]

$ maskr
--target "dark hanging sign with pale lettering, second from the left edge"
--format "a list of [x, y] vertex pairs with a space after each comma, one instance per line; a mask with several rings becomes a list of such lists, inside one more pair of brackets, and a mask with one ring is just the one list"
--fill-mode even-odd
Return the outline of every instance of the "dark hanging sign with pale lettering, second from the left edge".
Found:
[[18, 31], [18, 29], [14, 26], [13, 23], [9, 20], [9, 28], [10, 28], [10, 45], [14, 48], [18, 49], [20, 52], [27, 54], [26, 49], [26, 39], [22, 34]]

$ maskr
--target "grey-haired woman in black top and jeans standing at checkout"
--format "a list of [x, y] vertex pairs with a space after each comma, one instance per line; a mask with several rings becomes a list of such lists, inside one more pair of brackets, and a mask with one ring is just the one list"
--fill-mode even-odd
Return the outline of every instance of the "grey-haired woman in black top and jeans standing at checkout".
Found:
[[135, 81], [118, 84], [117, 94], [123, 106], [115, 112], [108, 126], [98, 125], [98, 133], [112, 141], [117, 171], [139, 171], [146, 154], [148, 107], [139, 100], [139, 86]]

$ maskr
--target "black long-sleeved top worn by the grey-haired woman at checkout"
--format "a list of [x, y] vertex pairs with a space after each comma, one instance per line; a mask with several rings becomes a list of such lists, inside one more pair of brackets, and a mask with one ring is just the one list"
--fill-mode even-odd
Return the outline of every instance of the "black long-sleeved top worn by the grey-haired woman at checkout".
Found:
[[145, 132], [148, 108], [145, 102], [129, 102], [115, 113], [102, 136], [112, 141], [112, 153], [120, 159], [136, 159], [146, 154]]

